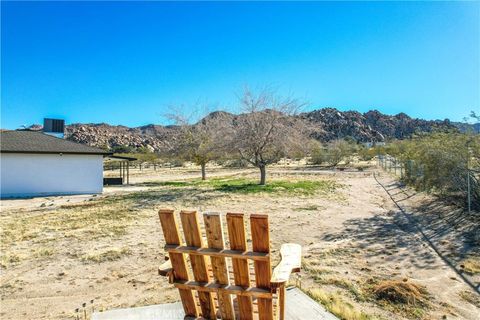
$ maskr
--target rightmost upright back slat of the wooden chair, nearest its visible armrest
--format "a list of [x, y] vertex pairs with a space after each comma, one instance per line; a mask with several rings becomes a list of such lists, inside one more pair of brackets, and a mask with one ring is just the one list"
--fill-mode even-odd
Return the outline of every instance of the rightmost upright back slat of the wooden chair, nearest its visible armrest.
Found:
[[[270, 231], [268, 216], [250, 215], [250, 230], [252, 232], [252, 250], [254, 252], [270, 252]], [[270, 289], [270, 261], [254, 261], [255, 281], [258, 288]], [[258, 299], [258, 317], [260, 320], [273, 320], [272, 298]]]

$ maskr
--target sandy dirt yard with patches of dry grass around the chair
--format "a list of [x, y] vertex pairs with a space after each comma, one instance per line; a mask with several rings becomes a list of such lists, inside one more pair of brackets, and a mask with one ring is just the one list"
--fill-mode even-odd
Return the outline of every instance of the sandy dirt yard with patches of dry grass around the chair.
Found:
[[[329, 163], [282, 160], [269, 165], [269, 179], [260, 185], [252, 165], [228, 168], [212, 161], [210, 177], [202, 180], [200, 165], [155, 170], [145, 162], [142, 170], [132, 169], [133, 185], [125, 189], [79, 203], [50, 198], [35, 207], [2, 210], [2, 317], [74, 318], [74, 310], [91, 300], [99, 310], [178, 300], [156, 276], [164, 254], [156, 210], [170, 207], [268, 213], [274, 263], [280, 244], [300, 243], [302, 290], [339, 318], [471, 318], [476, 293], [445, 269], [416, 233], [405, 231], [412, 227], [398, 221], [372, 177], [376, 160], [361, 160], [365, 147], [346, 143], [357, 151], [337, 164], [349, 168], [344, 172]], [[363, 171], [352, 170], [360, 163]], [[149, 175], [153, 178], [146, 179]], [[441, 217], [438, 206], [423, 215]], [[443, 236], [446, 243], [454, 241], [451, 232]], [[477, 279], [476, 247], [463, 255], [446, 248], [459, 257], [458, 268]], [[57, 293], [52, 295], [52, 288]]]

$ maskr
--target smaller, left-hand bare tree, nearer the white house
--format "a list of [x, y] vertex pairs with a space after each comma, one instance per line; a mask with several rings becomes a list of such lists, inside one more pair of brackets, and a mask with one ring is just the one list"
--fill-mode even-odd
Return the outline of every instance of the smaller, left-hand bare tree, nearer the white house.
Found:
[[177, 141], [170, 150], [171, 155], [199, 165], [202, 180], [205, 180], [207, 163], [221, 156], [218, 141], [225, 122], [222, 113], [215, 112], [195, 124], [191, 124], [189, 118], [180, 112], [169, 114], [167, 118], [180, 128]]

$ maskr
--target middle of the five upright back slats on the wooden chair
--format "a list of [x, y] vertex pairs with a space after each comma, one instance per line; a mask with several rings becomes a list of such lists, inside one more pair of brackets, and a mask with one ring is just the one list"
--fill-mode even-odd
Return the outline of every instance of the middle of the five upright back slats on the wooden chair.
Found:
[[[222, 219], [218, 213], [205, 213], [203, 215], [207, 243], [209, 248], [222, 250], [225, 247], [223, 239]], [[210, 257], [212, 261], [212, 272], [215, 282], [222, 285], [229, 285], [228, 267], [224, 257]], [[233, 320], [235, 318], [232, 305], [232, 296], [228, 293], [218, 293], [218, 306], [222, 319]]]

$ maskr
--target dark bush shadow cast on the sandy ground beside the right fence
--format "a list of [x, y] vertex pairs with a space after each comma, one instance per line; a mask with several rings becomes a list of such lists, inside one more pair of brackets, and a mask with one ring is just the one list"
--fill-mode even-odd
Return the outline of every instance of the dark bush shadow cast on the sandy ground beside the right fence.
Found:
[[[417, 199], [414, 206], [402, 202], [417, 194], [399, 183], [385, 185], [385, 190], [401, 209], [369, 218], [344, 222], [344, 231], [324, 236], [324, 240], [351, 239], [367, 252], [385, 261], [405, 260], [422, 269], [439, 267], [439, 256], [465, 282], [479, 291], [480, 275], [462, 269], [462, 260], [480, 257], [480, 218], [468, 215], [438, 198]], [[430, 246], [433, 250], [428, 250]]]

